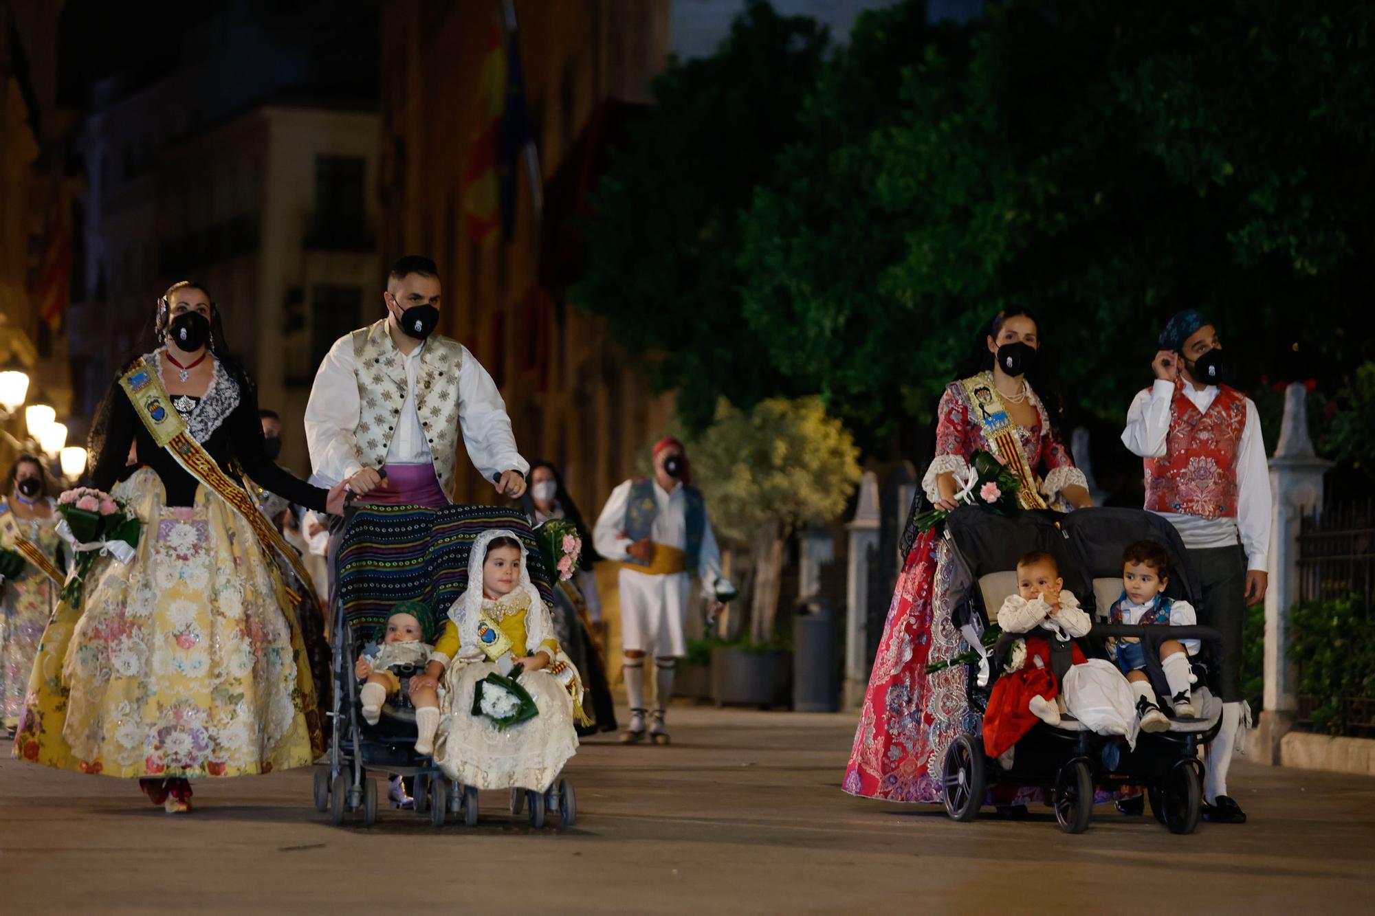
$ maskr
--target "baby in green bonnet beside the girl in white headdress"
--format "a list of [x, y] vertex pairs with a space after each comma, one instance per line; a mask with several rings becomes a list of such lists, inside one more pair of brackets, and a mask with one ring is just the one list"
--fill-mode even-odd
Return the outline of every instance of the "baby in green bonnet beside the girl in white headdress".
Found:
[[[434, 651], [430, 645], [433, 631], [434, 615], [425, 602], [402, 601], [392, 608], [382, 646], [373, 657], [360, 655], [353, 666], [353, 674], [364, 682], [359, 690], [364, 722], [377, 725], [382, 703], [402, 689], [402, 678], [415, 677], [424, 670]], [[415, 752], [429, 754], [434, 750], [439, 728], [439, 695], [433, 686], [417, 684], [410, 696], [415, 707]]]

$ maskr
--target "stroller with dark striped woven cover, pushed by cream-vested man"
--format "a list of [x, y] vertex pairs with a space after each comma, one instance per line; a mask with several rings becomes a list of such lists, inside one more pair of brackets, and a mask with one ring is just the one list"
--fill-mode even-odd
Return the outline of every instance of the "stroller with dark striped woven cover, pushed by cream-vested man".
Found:
[[[400, 601], [419, 600], [443, 613], [468, 587], [468, 554], [484, 530], [513, 531], [527, 547], [531, 582], [550, 601], [553, 582], [544, 569], [539, 545], [524, 514], [487, 506], [351, 506], [334, 557], [331, 670], [333, 721], [329, 763], [315, 770], [315, 809], [329, 811], [341, 825], [362, 811], [364, 827], [377, 821], [378, 780], [371, 772], [412, 778], [415, 811], [434, 827], [447, 817], [477, 824], [477, 788], [450, 780], [430, 756], [415, 752], [415, 708], [408, 696], [408, 675], [400, 673], [402, 689], [388, 697], [377, 725], [362, 718], [353, 662], [380, 641], [388, 611]], [[473, 575], [481, 576], [481, 571]], [[422, 670], [412, 674], [418, 675]], [[556, 778], [543, 791], [512, 789], [510, 813], [527, 811], [531, 827], [557, 818], [564, 827], [576, 821], [572, 783]]]

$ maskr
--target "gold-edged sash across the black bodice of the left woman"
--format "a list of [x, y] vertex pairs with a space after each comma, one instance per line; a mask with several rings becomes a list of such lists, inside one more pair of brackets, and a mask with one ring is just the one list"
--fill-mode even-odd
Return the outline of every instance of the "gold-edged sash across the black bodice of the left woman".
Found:
[[[311, 582], [311, 574], [305, 571], [296, 550], [282, 539], [282, 534], [276, 527], [258, 510], [257, 503], [253, 502], [253, 497], [220, 470], [220, 465], [216, 464], [214, 458], [187, 432], [186, 424], [182, 422], [182, 415], [172, 407], [172, 399], [162, 386], [157, 366], [140, 359], [120, 378], [120, 386], [124, 388], [124, 393], [133, 403], [133, 410], [143, 419], [143, 425], [147, 428], [148, 435], [153, 436], [153, 441], [160, 448], [166, 448], [188, 475], [213, 490], [238, 512], [249, 523], [249, 527], [253, 528], [253, 534], [257, 535], [263, 550], [268, 556], [276, 556], [279, 561], [286, 563], [300, 583], [314, 593], [315, 585]], [[282, 587], [286, 589], [293, 605], [301, 604], [304, 596], [293, 591], [286, 583]]]

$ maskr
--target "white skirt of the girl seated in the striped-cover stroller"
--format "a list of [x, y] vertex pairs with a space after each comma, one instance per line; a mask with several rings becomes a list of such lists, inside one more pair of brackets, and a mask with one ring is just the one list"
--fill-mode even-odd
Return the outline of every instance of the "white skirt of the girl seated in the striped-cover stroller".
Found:
[[434, 759], [450, 778], [480, 789], [525, 788], [542, 792], [578, 752], [573, 697], [553, 675], [527, 671], [520, 685], [539, 715], [498, 730], [473, 715], [473, 686], [496, 671], [490, 662], [455, 659], [440, 685]]

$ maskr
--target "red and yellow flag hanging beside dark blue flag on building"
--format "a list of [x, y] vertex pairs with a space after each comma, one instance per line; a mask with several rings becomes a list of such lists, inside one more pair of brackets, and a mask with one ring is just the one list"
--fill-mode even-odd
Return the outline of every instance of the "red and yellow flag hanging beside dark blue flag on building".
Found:
[[[506, 47], [495, 23], [487, 36], [477, 84], [477, 129], [463, 168], [463, 223], [468, 238], [474, 242], [485, 241], [498, 228], [503, 238], [512, 238], [520, 191], [518, 162], [521, 154], [535, 161], [514, 10], [507, 7], [506, 14]], [[532, 169], [532, 179], [536, 175]]]

